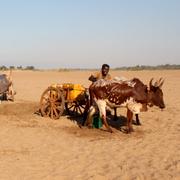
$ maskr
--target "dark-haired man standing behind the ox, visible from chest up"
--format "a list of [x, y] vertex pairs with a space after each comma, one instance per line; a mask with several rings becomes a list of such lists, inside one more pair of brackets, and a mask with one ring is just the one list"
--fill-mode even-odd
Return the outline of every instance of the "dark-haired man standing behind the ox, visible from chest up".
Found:
[[111, 75], [109, 74], [109, 69], [110, 66], [108, 64], [103, 64], [101, 67], [101, 71], [93, 74], [89, 77], [89, 80], [91, 82], [95, 82], [99, 79], [106, 79], [106, 80], [110, 80], [111, 79]]

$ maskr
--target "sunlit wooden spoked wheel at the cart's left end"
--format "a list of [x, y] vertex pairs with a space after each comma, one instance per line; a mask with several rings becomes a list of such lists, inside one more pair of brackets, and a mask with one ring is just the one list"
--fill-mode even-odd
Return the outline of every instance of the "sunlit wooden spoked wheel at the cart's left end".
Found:
[[42, 94], [40, 100], [40, 111], [42, 116], [58, 119], [64, 111], [64, 95], [61, 90], [48, 87]]

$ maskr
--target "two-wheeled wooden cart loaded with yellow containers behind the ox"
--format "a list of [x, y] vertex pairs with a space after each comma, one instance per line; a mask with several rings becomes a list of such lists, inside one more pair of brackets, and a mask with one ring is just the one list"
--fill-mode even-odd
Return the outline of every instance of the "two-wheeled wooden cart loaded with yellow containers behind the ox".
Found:
[[69, 115], [83, 115], [88, 101], [87, 89], [80, 84], [53, 84], [41, 95], [40, 112], [42, 116], [58, 119], [64, 110]]

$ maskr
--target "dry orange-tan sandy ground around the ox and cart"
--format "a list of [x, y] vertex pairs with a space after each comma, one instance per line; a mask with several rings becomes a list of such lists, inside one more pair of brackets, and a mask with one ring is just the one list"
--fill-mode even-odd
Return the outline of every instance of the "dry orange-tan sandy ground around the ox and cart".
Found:
[[114, 133], [79, 128], [76, 118], [44, 118], [38, 109], [42, 92], [52, 83], [88, 87], [89, 71], [14, 71], [15, 102], [0, 104], [0, 179], [180, 179], [180, 71], [111, 71], [138, 77], [145, 84], [163, 77], [166, 108], [140, 114], [135, 132], [120, 131], [126, 112], [110, 120]]

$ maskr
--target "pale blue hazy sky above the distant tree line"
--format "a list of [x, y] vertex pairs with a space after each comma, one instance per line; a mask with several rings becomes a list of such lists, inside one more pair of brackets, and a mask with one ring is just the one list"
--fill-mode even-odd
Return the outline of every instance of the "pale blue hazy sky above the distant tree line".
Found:
[[180, 0], [0, 0], [0, 66], [180, 64]]

